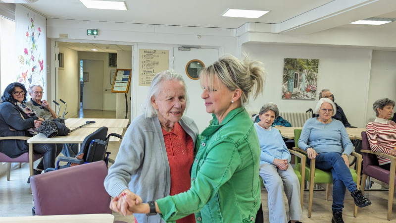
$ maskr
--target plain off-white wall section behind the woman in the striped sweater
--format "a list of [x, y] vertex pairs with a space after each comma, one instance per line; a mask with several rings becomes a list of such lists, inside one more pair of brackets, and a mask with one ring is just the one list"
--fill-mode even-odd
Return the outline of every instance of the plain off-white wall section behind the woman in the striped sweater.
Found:
[[367, 100], [367, 122], [375, 119], [373, 103], [381, 98], [396, 100], [396, 52], [373, 51], [370, 87]]

